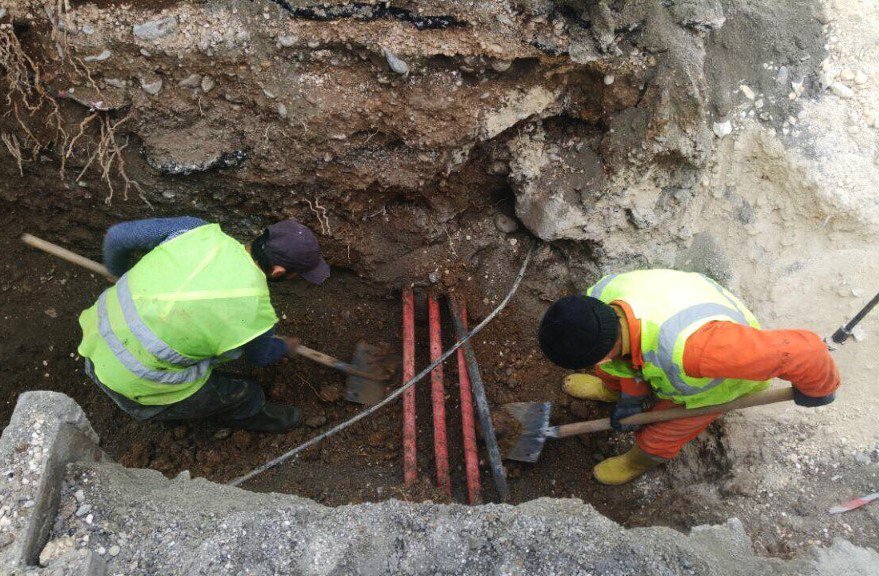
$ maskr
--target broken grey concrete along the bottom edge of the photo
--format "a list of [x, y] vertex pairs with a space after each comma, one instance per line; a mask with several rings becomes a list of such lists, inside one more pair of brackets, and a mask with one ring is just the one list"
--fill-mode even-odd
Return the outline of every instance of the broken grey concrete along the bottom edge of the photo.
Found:
[[[0, 439], [0, 534], [11, 537], [0, 549], [3, 574], [867, 576], [879, 570], [879, 554], [845, 540], [790, 561], [760, 558], [736, 519], [689, 535], [625, 530], [579, 500], [478, 507], [389, 500], [328, 508], [95, 461], [97, 441], [66, 396], [21, 396]], [[74, 513], [83, 505], [90, 506], [87, 515]]]

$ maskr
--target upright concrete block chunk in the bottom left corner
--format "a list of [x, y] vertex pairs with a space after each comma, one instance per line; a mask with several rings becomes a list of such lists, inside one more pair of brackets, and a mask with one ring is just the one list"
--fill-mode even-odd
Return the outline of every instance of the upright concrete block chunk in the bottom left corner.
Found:
[[19, 396], [0, 437], [0, 566], [14, 570], [37, 564], [58, 510], [67, 464], [103, 459], [98, 441], [70, 397], [47, 391]]

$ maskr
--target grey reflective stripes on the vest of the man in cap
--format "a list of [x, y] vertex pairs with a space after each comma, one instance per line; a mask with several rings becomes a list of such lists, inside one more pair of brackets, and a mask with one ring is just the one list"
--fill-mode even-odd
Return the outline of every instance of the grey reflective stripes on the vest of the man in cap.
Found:
[[[110, 289], [108, 289], [108, 290], [110, 290]], [[119, 290], [117, 287], [117, 295], [118, 294], [119, 294]], [[130, 293], [129, 293], [128, 301], [130, 304], [133, 304], [131, 302]], [[129, 316], [131, 315], [131, 311], [133, 311], [133, 313], [135, 315], [137, 315], [137, 311], [134, 310], [132, 307], [131, 311], [129, 311], [129, 313], [126, 314], [125, 306], [122, 305], [121, 298], [119, 299], [119, 302], [120, 302], [120, 306], [122, 307], [122, 313], [123, 313], [123, 316], [125, 317], [125, 322], [126, 322], [126, 324], [128, 324], [128, 329], [131, 330], [133, 334], [135, 334], [135, 338], [137, 338], [137, 340], [141, 346], [143, 346], [145, 349], [147, 349], [147, 351], [152, 353], [154, 356], [157, 356], [157, 355], [153, 352], [152, 349], [149, 348], [149, 346], [150, 345], [155, 346], [156, 342], [158, 342], [158, 343], [160, 343], [160, 345], [164, 345], [165, 347], [170, 349], [170, 346], [168, 346], [167, 344], [165, 344], [164, 342], [159, 340], [158, 337], [155, 336], [155, 334], [152, 334], [152, 332], [151, 332], [151, 334], [155, 338], [155, 340], [153, 342], [151, 342], [150, 344], [147, 344], [146, 342], [144, 342], [144, 340], [142, 340], [140, 338], [140, 336], [135, 333], [134, 328], [129, 323]], [[139, 319], [139, 316], [138, 316], [138, 319]], [[142, 321], [141, 321], [141, 324], [143, 325], [144, 328], [146, 328], [146, 325], [144, 325]], [[149, 330], [149, 329], [147, 328], [147, 330]], [[174, 384], [174, 385], [191, 384], [193, 382], [197, 382], [198, 380], [204, 378], [205, 375], [208, 373], [208, 370], [210, 370], [211, 364], [213, 363], [212, 359], [210, 359], [210, 358], [205, 359], [205, 360], [201, 360], [195, 364], [193, 364], [191, 360], [187, 359], [187, 361], [189, 362], [187, 367], [184, 367], [182, 370], [173, 370], [173, 371], [171, 371], [171, 370], [154, 370], [152, 368], [144, 366], [140, 362], [140, 360], [138, 360], [137, 358], [134, 357], [134, 354], [132, 354], [131, 352], [128, 351], [128, 349], [125, 347], [125, 344], [123, 344], [122, 341], [119, 340], [119, 338], [116, 336], [116, 333], [113, 331], [113, 327], [110, 324], [110, 316], [107, 313], [107, 290], [102, 292], [101, 296], [98, 298], [98, 332], [101, 334], [101, 337], [107, 343], [107, 346], [110, 347], [110, 350], [113, 352], [113, 355], [116, 356], [116, 359], [119, 360], [119, 362], [125, 367], [126, 370], [128, 370], [132, 374], [136, 375], [137, 377], [143, 378], [144, 380], [149, 380], [150, 382], [157, 382], [159, 384]], [[164, 360], [164, 359], [163, 359], [163, 361], [167, 362], [167, 360]], [[169, 363], [174, 364], [173, 362], [169, 362]]]

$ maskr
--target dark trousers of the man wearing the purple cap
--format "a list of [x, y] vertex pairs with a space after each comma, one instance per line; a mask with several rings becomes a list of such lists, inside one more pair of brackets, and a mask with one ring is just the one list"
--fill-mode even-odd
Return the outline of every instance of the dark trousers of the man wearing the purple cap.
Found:
[[167, 406], [144, 406], [110, 390], [95, 376], [91, 361], [86, 359], [86, 374], [127, 414], [137, 420], [198, 420], [214, 418], [236, 427], [259, 413], [266, 404], [262, 386], [250, 378], [215, 370], [198, 392]]

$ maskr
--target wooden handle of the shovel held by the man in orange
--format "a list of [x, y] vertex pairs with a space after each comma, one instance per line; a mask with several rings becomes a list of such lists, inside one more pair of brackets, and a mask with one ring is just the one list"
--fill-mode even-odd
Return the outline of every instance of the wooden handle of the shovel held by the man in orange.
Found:
[[[742, 408], [750, 408], [752, 406], [762, 406], [764, 404], [774, 404], [776, 402], [787, 402], [794, 399], [794, 389], [790, 388], [774, 388], [765, 390], [756, 394], [748, 394], [741, 398], [736, 398], [732, 402], [726, 404], [717, 404], [716, 406], [704, 406], [702, 408], [671, 408], [669, 410], [655, 410], [653, 412], [643, 412], [635, 414], [628, 418], [620, 420], [621, 424], [650, 424], [652, 422], [666, 422], [668, 420], [678, 420], [680, 418], [690, 418], [692, 416], [702, 416], [704, 414], [718, 414], [729, 412], [731, 410], [741, 410]], [[556, 438], [565, 438], [567, 436], [576, 436], [578, 434], [589, 434], [591, 432], [601, 432], [602, 430], [610, 430], [610, 418], [602, 418], [600, 420], [589, 420], [588, 422], [576, 422], [574, 424], [563, 424], [557, 426], [557, 433], [553, 434]]]

